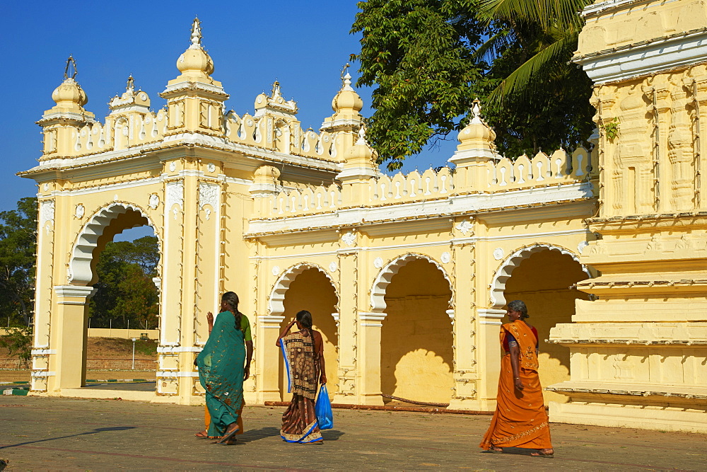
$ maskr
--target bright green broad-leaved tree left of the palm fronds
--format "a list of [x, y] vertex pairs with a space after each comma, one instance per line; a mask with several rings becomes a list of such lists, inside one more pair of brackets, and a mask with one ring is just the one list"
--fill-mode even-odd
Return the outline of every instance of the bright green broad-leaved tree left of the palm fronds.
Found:
[[472, 12], [457, 12], [457, 4], [358, 2], [351, 29], [363, 33], [361, 53], [353, 56], [361, 62], [358, 85], [376, 86], [366, 137], [390, 170], [456, 129], [455, 118], [474, 100], [469, 84], [484, 83], [484, 67], [474, 62], [484, 27]]

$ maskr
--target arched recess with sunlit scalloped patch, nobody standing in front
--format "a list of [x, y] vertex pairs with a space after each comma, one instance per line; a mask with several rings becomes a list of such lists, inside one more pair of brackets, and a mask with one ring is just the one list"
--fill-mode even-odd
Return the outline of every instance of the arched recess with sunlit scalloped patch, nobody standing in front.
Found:
[[385, 287], [380, 333], [380, 388], [386, 396], [449, 403], [453, 381], [452, 292], [440, 267], [427, 258], [399, 261]]

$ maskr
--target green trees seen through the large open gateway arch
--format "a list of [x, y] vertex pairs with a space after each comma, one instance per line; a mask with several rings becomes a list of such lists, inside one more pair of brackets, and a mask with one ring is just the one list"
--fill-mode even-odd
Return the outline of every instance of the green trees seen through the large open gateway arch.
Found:
[[157, 326], [159, 294], [152, 282], [160, 253], [157, 238], [107, 243], [98, 256], [98, 289], [88, 310], [92, 327], [152, 329]]

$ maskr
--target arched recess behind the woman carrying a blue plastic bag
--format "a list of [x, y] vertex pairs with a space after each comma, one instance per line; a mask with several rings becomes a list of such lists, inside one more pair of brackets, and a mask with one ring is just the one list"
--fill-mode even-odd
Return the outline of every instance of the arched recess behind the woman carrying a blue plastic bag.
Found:
[[[301, 272], [299, 272], [301, 270]], [[298, 267], [293, 271], [293, 279], [284, 291], [282, 306], [285, 319], [289, 321], [300, 310], [312, 313], [312, 322], [315, 330], [322, 333], [324, 339], [324, 357], [327, 368], [327, 390], [329, 395], [338, 391], [339, 376], [339, 333], [337, 320], [332, 313], [337, 312], [339, 299], [332, 281], [319, 267]], [[293, 329], [296, 329], [293, 328]], [[279, 355], [279, 387], [283, 401], [290, 401], [291, 394], [287, 393], [287, 379], [282, 356]]]

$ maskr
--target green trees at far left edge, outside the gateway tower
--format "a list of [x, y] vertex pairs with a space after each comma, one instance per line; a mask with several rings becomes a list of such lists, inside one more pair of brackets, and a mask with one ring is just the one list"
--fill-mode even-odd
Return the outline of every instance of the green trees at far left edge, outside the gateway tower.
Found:
[[0, 212], [0, 313], [11, 324], [28, 326], [33, 313], [37, 199]]

